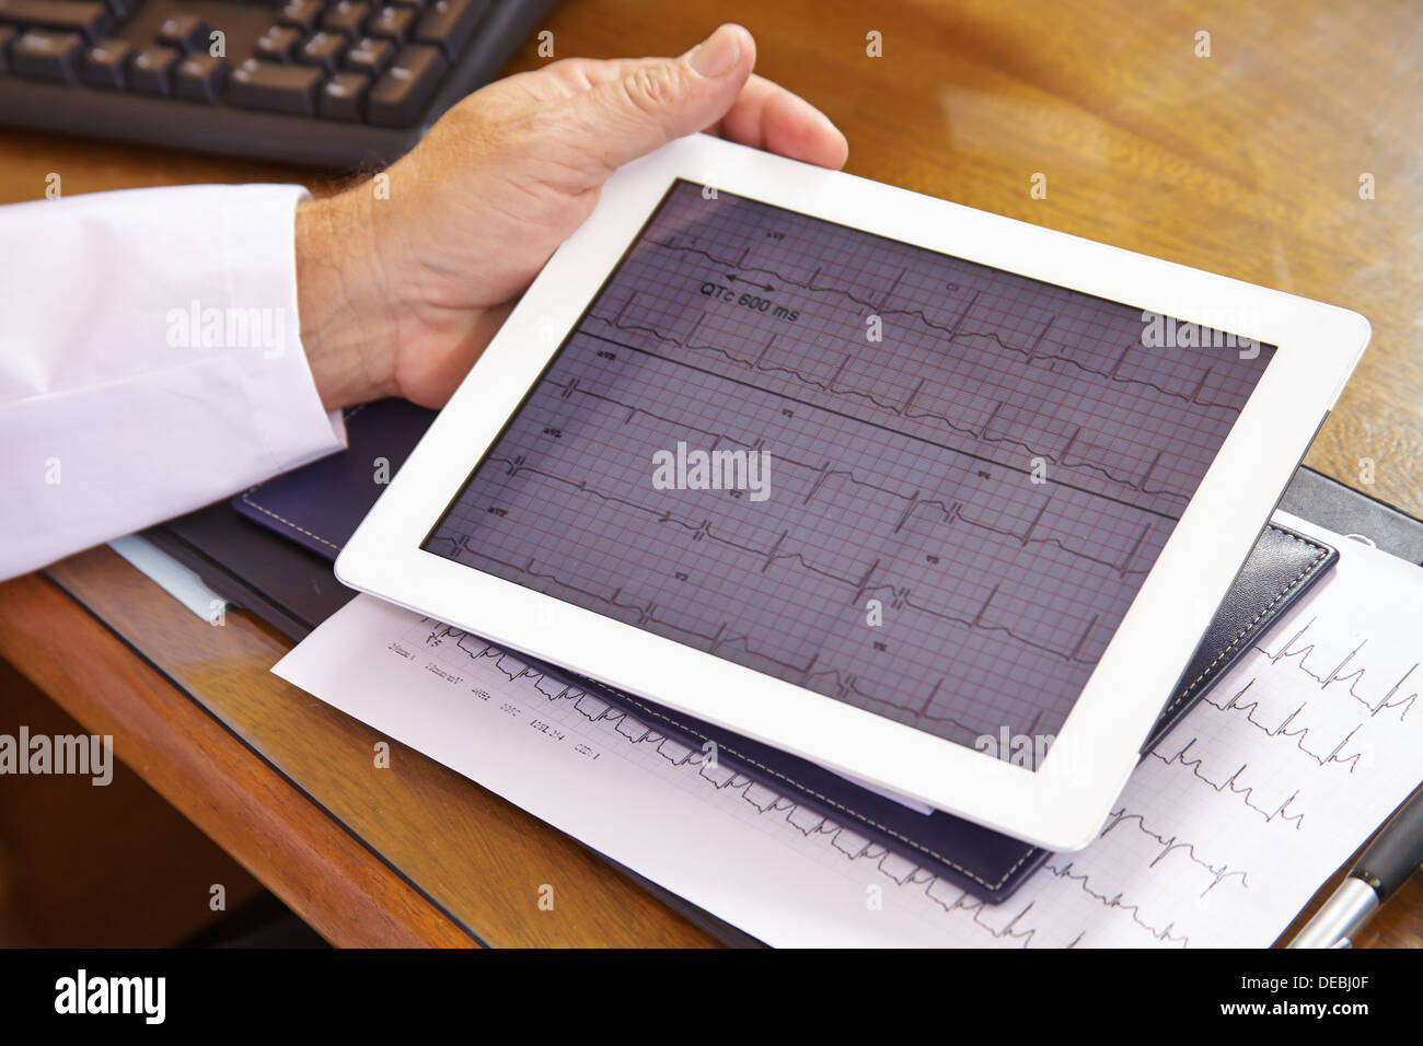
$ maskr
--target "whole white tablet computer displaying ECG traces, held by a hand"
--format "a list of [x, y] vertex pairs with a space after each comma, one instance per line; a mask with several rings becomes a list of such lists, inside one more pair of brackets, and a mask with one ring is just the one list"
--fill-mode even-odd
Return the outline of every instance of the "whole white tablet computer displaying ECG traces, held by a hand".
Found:
[[1368, 339], [694, 135], [608, 182], [336, 572], [1080, 848]]

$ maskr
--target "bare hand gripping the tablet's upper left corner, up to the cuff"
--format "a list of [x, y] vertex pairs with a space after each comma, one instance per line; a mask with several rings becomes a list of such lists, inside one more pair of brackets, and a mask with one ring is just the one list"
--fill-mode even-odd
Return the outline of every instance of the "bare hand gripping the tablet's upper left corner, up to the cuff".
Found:
[[751, 75], [721, 26], [680, 58], [568, 58], [451, 108], [387, 172], [296, 212], [302, 344], [326, 407], [450, 397], [609, 175], [673, 138], [726, 138], [838, 168], [845, 137]]

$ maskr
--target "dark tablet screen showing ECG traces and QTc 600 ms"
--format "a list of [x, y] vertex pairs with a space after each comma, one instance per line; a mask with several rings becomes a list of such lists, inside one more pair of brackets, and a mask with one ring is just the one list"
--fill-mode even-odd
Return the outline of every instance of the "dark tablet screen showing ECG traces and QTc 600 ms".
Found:
[[1272, 353], [679, 181], [421, 546], [1042, 751]]

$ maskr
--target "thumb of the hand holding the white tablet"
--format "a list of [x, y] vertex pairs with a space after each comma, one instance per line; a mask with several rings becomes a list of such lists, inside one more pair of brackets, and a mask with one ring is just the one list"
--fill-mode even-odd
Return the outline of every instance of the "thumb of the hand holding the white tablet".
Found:
[[751, 34], [727, 23], [680, 58], [649, 61], [576, 95], [565, 144], [596, 157], [606, 176], [724, 117], [754, 64]]

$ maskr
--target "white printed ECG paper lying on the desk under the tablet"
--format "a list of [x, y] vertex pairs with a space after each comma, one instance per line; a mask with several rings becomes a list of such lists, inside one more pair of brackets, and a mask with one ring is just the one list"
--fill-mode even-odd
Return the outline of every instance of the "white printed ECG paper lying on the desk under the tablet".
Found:
[[1339, 565], [998, 907], [370, 596], [275, 670], [773, 945], [1264, 946], [1423, 778], [1423, 569], [1281, 522]]

